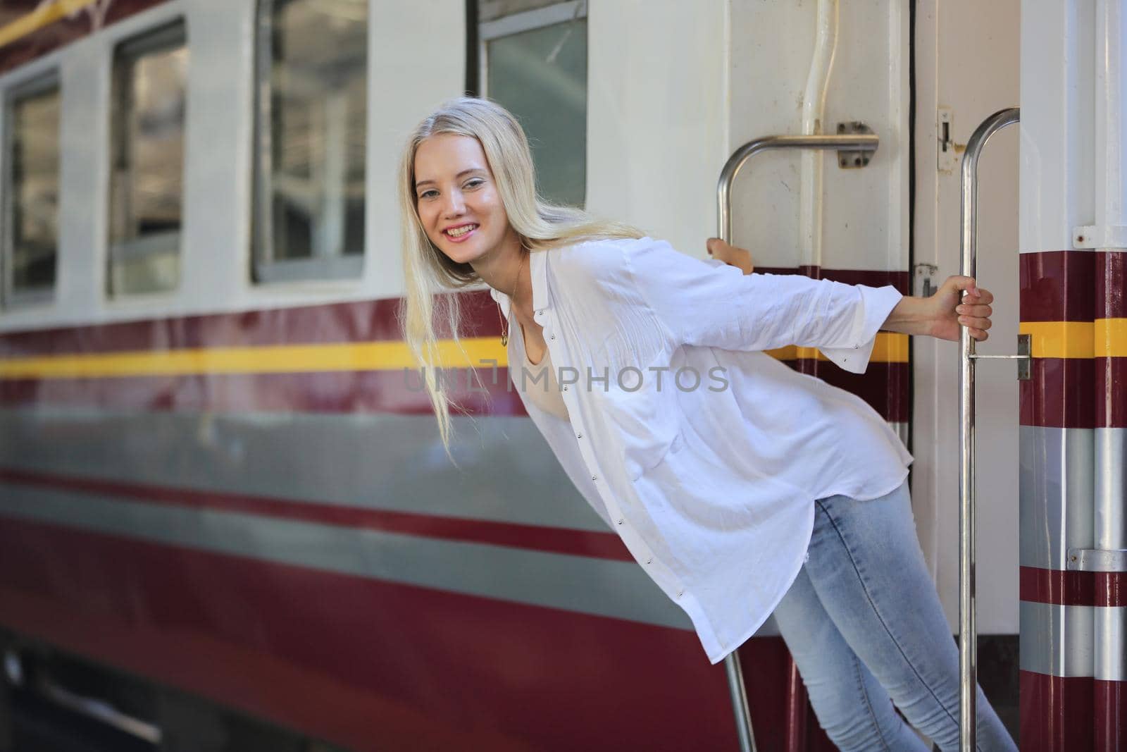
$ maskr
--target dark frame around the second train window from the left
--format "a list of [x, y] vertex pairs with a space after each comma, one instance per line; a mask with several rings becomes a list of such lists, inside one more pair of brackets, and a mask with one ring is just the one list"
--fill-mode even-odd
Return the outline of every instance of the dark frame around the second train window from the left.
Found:
[[[159, 236], [148, 236], [137, 237], [130, 240], [114, 240], [113, 225], [114, 225], [114, 212], [117, 211], [114, 204], [114, 188], [115, 188], [115, 172], [117, 160], [121, 157], [121, 150], [124, 147], [124, 141], [126, 138], [126, 131], [124, 125], [124, 112], [118, 105], [121, 104], [123, 96], [122, 81], [118, 80], [122, 77], [122, 71], [119, 70], [119, 62], [127, 60], [128, 63], [135, 63], [136, 61], [144, 57], [147, 54], [170, 51], [183, 46], [188, 51], [188, 65], [190, 67], [190, 50], [188, 47], [188, 24], [187, 19], [183, 16], [172, 18], [168, 21], [160, 24], [153, 28], [148, 28], [141, 30], [136, 34], [130, 35], [116, 44], [109, 53], [109, 103], [110, 103], [110, 114], [109, 114], [109, 174], [107, 176], [107, 192], [106, 192], [106, 280], [105, 280], [105, 294], [110, 300], [122, 300], [122, 299], [135, 299], [144, 297], [162, 297], [176, 294], [181, 285], [183, 271], [184, 271], [184, 228], [185, 228], [185, 206], [186, 206], [186, 194], [187, 194], [187, 129], [188, 129], [188, 82], [189, 73], [185, 73], [184, 79], [184, 115], [181, 123], [181, 132], [184, 133], [184, 144], [181, 145], [181, 169], [180, 169], [180, 228], [175, 231], [169, 231], [167, 233], [161, 233]], [[132, 175], [132, 172], [131, 172]], [[170, 240], [170, 236], [175, 232], [175, 242]], [[177, 264], [176, 284], [169, 289], [161, 290], [141, 290], [141, 291], [127, 291], [127, 290], [115, 290], [114, 289], [114, 275], [115, 262], [117, 260], [133, 260], [135, 258], [143, 258], [145, 256], [168, 253], [170, 247], [175, 246], [175, 256]]]

